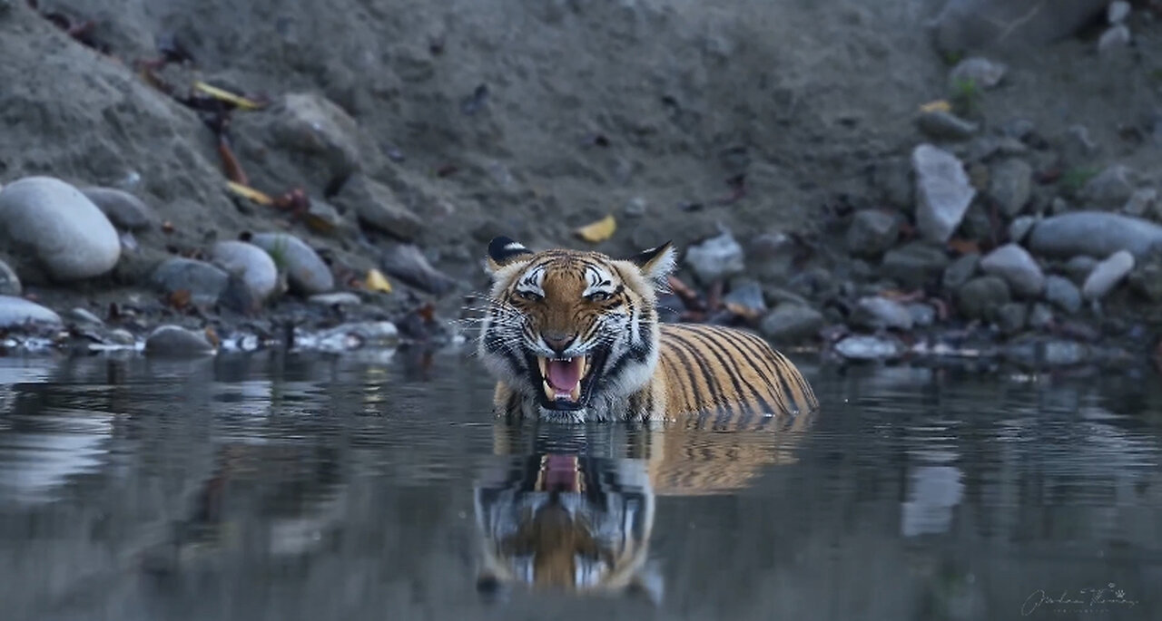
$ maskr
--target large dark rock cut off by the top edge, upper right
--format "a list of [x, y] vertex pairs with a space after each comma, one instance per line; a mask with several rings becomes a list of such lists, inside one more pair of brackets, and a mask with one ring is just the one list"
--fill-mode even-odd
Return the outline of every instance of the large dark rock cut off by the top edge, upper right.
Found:
[[1027, 50], [1074, 34], [1105, 7], [1106, 0], [948, 0], [930, 27], [942, 51]]

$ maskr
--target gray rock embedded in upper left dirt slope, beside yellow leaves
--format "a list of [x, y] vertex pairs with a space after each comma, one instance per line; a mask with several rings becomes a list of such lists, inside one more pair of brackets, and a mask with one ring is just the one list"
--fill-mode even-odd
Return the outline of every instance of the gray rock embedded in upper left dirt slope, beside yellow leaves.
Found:
[[271, 115], [271, 146], [307, 156], [332, 179], [359, 169], [359, 124], [322, 95], [292, 93], [264, 114]]

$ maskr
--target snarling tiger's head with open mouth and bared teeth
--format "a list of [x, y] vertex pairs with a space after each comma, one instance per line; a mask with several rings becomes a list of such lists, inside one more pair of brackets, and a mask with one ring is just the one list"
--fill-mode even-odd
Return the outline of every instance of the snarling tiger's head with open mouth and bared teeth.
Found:
[[485, 366], [525, 416], [567, 423], [617, 418], [658, 363], [655, 290], [674, 269], [662, 244], [617, 260], [597, 252], [532, 252], [498, 237], [480, 332]]

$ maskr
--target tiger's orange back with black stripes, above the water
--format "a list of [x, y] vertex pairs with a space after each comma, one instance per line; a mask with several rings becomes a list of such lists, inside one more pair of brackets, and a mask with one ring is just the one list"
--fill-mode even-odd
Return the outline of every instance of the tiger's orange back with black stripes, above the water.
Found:
[[666, 413], [715, 412], [734, 419], [813, 412], [811, 385], [759, 337], [722, 326], [662, 324], [657, 374]]

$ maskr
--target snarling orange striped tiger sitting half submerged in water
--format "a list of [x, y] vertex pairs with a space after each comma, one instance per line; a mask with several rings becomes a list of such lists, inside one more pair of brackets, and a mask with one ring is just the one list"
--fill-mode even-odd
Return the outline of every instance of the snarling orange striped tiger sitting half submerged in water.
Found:
[[558, 423], [813, 412], [798, 368], [749, 331], [659, 320], [669, 241], [629, 259], [488, 244], [478, 353], [496, 414]]

